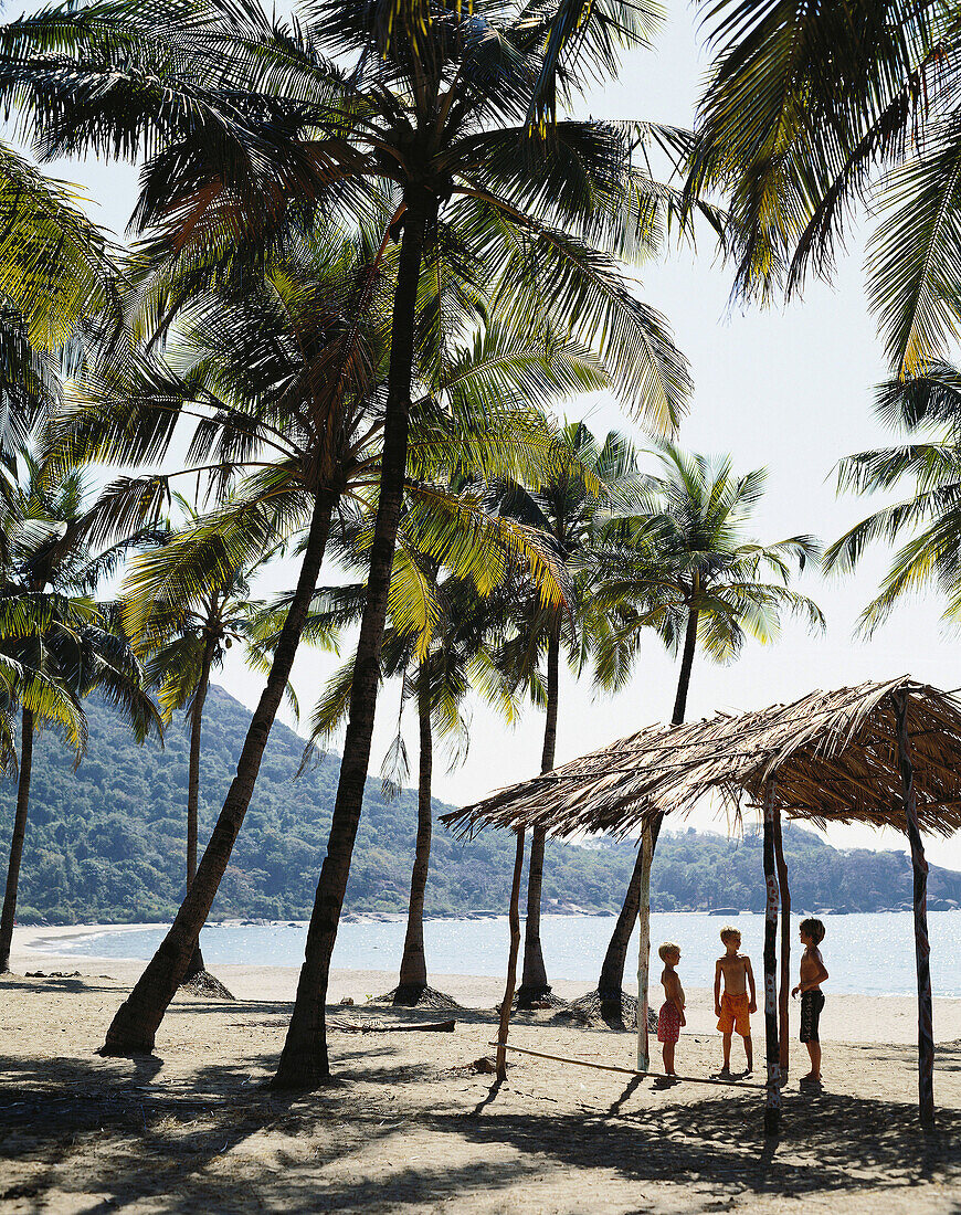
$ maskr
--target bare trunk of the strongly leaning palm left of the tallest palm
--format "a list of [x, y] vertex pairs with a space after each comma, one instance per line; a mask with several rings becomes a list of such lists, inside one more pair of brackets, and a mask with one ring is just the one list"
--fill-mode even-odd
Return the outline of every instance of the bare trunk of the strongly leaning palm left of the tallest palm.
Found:
[[147, 968], [137, 979], [136, 987], [118, 1008], [111, 1028], [107, 1030], [107, 1039], [101, 1047], [102, 1055], [137, 1055], [153, 1050], [157, 1027], [163, 1021], [166, 1007], [174, 999], [193, 956], [193, 950], [197, 948], [200, 928], [207, 921], [210, 904], [214, 902], [224, 871], [230, 861], [234, 840], [254, 795], [254, 784], [260, 770], [264, 748], [267, 745], [273, 719], [290, 678], [300, 634], [304, 632], [311, 598], [321, 572], [330, 515], [337, 497], [338, 495], [330, 490], [318, 491], [315, 497], [296, 589], [277, 640], [267, 684], [260, 695], [254, 716], [250, 718], [241, 758], [237, 761], [237, 775], [227, 790], [227, 797], [210, 835], [210, 842], [200, 858], [197, 874], [187, 889], [176, 919], [157, 953], [147, 963]]

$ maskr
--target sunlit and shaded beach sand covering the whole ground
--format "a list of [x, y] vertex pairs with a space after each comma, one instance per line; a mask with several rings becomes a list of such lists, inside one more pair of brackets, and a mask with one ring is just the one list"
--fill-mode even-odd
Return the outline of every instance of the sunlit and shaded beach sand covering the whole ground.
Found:
[[[830, 996], [825, 1090], [803, 1092], [792, 1078], [782, 1135], [765, 1142], [753, 1089], [663, 1087], [521, 1056], [498, 1089], [471, 1068], [492, 1053], [501, 983], [485, 978], [431, 976], [469, 1006], [452, 1034], [332, 1029], [334, 1083], [315, 1094], [262, 1087], [294, 970], [221, 967], [237, 1002], [179, 998], [153, 1056], [101, 1059], [92, 1051], [141, 965], [38, 955], [35, 939], [18, 932], [19, 973], [0, 979], [4, 1211], [961, 1211], [959, 1000], [935, 1001], [933, 1136], [917, 1131], [911, 1000]], [[394, 982], [341, 971], [330, 996], [361, 1001]], [[573, 996], [583, 984], [558, 989]], [[718, 1067], [710, 998], [689, 993], [685, 1074]], [[436, 1019], [360, 1004], [329, 1015], [340, 1025]], [[511, 1040], [632, 1066], [629, 1035], [547, 1016], [515, 1018]], [[761, 1046], [759, 1018], [756, 1034]], [[793, 1044], [793, 1076], [804, 1059]]]

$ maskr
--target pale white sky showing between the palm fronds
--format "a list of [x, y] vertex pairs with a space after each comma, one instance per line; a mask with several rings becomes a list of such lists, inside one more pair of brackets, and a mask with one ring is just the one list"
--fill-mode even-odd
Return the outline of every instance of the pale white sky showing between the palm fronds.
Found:
[[[12, 16], [15, 10], [7, 6], [5, 12]], [[672, 0], [658, 51], [628, 57], [618, 83], [592, 95], [584, 112], [690, 124], [703, 67], [691, 11]], [[53, 169], [86, 187], [98, 222], [123, 230], [132, 204], [132, 169], [92, 163]], [[830, 542], [869, 512], [865, 501], [837, 499], [830, 477], [838, 457], [889, 440], [871, 412], [872, 385], [883, 377], [884, 362], [864, 303], [863, 238], [864, 232], [855, 228], [833, 286], [810, 284], [803, 300], [786, 310], [729, 311], [730, 271], [716, 262], [707, 233], [696, 253], [684, 250], [644, 271], [639, 293], [667, 313], [694, 371], [695, 395], [682, 443], [705, 453], [730, 452], [741, 471], [759, 465], [769, 469], [768, 495], [754, 529], [761, 541], [813, 532]], [[609, 399], [572, 400], [566, 412], [587, 416], [595, 430], [632, 430], [644, 445], [643, 433]], [[801, 626], [788, 623], [779, 644], [750, 644], [733, 666], [718, 667], [699, 656], [689, 719], [716, 710], [759, 708], [815, 688], [893, 674], [910, 673], [946, 689], [961, 685], [959, 639], [942, 626], [933, 592], [903, 606], [870, 643], [852, 639], [858, 614], [875, 593], [887, 559], [886, 552], [872, 554], [853, 578], [829, 582], [809, 575], [798, 583], [821, 605], [826, 635], [809, 637]], [[267, 576], [265, 589], [288, 581], [288, 575], [277, 571]], [[310, 651], [298, 659], [294, 683], [305, 716], [333, 665], [329, 657]], [[239, 657], [231, 659], [219, 682], [249, 706], [260, 693], [260, 678]], [[654, 638], [631, 685], [616, 699], [594, 699], [587, 680], [576, 685], [564, 678], [558, 762], [667, 720], [674, 683], [675, 663]], [[388, 690], [378, 710], [373, 773], [396, 711], [396, 693]], [[475, 707], [468, 759], [451, 774], [439, 765], [436, 796], [465, 803], [533, 775], [542, 729], [542, 718], [533, 711], [509, 729]], [[705, 813], [694, 815], [691, 823], [707, 826], [713, 820]], [[827, 837], [840, 847], [904, 847], [900, 836], [882, 837], [860, 827], [832, 829]], [[931, 841], [929, 857], [961, 869], [961, 838]]]

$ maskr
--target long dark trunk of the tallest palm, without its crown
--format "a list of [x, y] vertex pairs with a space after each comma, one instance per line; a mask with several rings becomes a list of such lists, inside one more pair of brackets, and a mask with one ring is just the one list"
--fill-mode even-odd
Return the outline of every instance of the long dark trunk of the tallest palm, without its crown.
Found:
[[380, 493], [367, 575], [367, 600], [354, 661], [350, 716], [330, 835], [327, 841], [327, 855], [321, 866], [307, 928], [294, 1012], [277, 1074], [273, 1078], [273, 1085], [278, 1089], [310, 1089], [322, 1084], [330, 1075], [324, 1008], [327, 983], [371, 762], [371, 738], [380, 674], [380, 645], [407, 471], [407, 426], [411, 412], [417, 290], [428, 220], [431, 211], [436, 215], [436, 202], [420, 188], [408, 186], [405, 202], [407, 210], [391, 322]]

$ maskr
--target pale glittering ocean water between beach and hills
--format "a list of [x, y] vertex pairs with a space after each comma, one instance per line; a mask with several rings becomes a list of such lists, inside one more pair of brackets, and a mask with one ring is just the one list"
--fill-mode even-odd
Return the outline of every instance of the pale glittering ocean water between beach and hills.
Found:
[[[797, 943], [797, 923], [793, 937]], [[821, 953], [831, 973], [832, 991], [866, 995], [910, 995], [916, 991], [914, 920], [910, 912], [822, 916], [827, 934]], [[727, 920], [706, 912], [665, 911], [651, 915], [651, 967], [663, 940], [680, 945], [680, 976], [688, 987], [710, 987], [714, 960], [722, 945], [718, 931]], [[731, 921], [741, 929], [742, 949], [762, 968], [764, 917], [741, 914]], [[554, 979], [597, 981], [614, 919], [607, 916], [545, 915], [542, 942], [548, 974]], [[935, 995], [961, 996], [961, 911], [928, 914], [931, 973]], [[337, 938], [333, 966], [340, 970], [392, 971], [401, 956], [403, 923], [344, 923]], [[219, 965], [299, 966], [304, 957], [306, 926], [210, 925], [200, 936], [204, 960]], [[64, 940], [51, 939], [41, 948], [50, 953], [87, 957], [124, 957], [147, 961], [160, 939], [158, 928], [131, 927], [89, 933]], [[429, 920], [424, 925], [428, 967], [435, 974], [502, 976], [507, 967], [507, 916], [490, 920]], [[792, 968], [801, 954], [792, 949]], [[637, 933], [628, 954], [624, 985], [637, 972]]]

